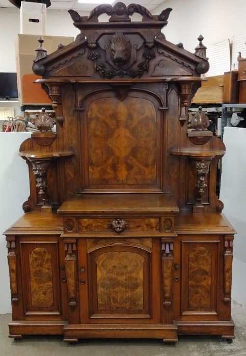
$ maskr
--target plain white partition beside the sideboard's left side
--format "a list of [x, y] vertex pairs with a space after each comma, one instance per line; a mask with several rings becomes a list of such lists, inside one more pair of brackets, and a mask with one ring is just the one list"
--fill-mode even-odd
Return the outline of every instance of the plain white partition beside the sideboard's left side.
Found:
[[23, 215], [22, 203], [30, 195], [28, 165], [18, 156], [21, 142], [29, 137], [28, 132], [0, 132], [0, 314], [11, 312], [8, 250], [2, 233]]

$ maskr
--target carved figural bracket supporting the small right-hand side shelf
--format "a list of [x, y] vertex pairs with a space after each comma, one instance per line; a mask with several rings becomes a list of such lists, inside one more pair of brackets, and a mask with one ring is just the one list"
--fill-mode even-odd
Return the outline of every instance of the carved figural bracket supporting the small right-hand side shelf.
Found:
[[204, 197], [207, 184], [205, 183], [209, 165], [212, 158], [194, 160], [195, 170], [197, 175], [196, 187], [196, 203], [194, 204], [193, 211], [203, 210], [202, 199]]

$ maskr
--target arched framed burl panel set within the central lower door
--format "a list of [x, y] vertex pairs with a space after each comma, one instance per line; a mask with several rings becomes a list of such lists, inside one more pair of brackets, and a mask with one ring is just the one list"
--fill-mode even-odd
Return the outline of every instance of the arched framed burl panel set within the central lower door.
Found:
[[131, 246], [111, 246], [92, 251], [89, 257], [92, 317], [150, 314], [148, 252]]

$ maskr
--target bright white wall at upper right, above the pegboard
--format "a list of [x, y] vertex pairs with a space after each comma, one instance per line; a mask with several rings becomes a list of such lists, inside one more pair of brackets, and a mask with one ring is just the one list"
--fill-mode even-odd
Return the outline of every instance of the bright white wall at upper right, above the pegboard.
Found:
[[163, 33], [168, 41], [182, 42], [191, 52], [198, 45], [199, 35], [203, 35], [207, 46], [246, 32], [245, 0], [167, 0], [152, 13], [159, 14], [166, 8], [173, 11]]

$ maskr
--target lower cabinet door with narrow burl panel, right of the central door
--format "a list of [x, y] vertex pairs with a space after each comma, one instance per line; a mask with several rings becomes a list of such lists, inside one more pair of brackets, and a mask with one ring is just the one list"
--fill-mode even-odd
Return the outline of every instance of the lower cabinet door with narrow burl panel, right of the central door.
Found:
[[180, 256], [180, 270], [175, 273], [180, 276], [174, 283], [175, 319], [196, 320], [198, 315], [199, 319], [217, 319], [220, 246], [218, 236], [182, 236], [177, 241], [175, 264]]

